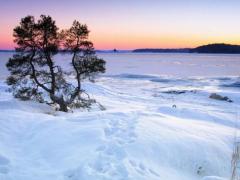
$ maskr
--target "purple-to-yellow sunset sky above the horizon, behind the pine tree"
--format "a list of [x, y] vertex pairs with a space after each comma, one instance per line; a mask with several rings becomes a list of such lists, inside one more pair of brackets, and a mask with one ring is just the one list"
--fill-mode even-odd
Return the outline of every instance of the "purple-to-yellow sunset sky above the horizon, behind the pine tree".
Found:
[[240, 0], [0, 0], [0, 49], [26, 15], [51, 15], [60, 28], [86, 23], [96, 49], [240, 44]]

